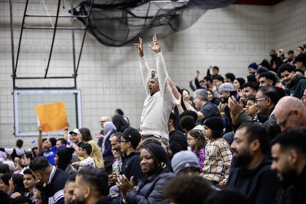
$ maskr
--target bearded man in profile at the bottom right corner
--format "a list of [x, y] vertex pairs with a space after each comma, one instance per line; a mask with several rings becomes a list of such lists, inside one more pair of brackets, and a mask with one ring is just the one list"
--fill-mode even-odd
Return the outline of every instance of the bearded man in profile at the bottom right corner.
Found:
[[306, 203], [306, 126], [279, 134], [272, 141], [272, 170], [281, 181], [275, 204]]

